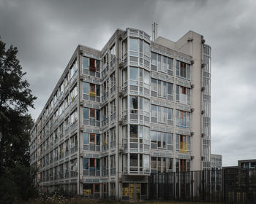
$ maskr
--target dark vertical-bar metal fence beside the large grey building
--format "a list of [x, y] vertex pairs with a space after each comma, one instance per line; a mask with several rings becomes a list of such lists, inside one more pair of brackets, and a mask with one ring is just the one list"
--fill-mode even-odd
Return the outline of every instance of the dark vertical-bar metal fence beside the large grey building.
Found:
[[149, 198], [214, 203], [256, 203], [256, 170], [151, 173]]

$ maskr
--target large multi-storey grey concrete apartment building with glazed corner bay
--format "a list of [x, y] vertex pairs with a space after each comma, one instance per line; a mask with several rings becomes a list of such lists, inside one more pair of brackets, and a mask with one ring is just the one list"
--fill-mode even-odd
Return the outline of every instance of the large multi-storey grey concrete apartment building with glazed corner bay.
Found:
[[148, 176], [211, 168], [211, 47], [117, 29], [78, 45], [31, 131], [43, 192], [148, 197]]

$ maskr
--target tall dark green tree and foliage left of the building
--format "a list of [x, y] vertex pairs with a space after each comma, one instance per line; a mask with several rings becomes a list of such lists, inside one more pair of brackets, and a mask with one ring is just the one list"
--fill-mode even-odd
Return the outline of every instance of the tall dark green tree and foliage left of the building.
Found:
[[36, 195], [29, 166], [29, 138], [34, 122], [27, 114], [36, 99], [16, 58], [0, 39], [0, 203]]

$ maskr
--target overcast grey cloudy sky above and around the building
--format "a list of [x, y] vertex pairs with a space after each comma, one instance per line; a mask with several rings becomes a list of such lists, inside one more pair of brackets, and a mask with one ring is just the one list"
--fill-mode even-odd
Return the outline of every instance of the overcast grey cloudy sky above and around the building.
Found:
[[223, 165], [256, 158], [256, 1], [0, 0], [0, 36], [37, 96], [37, 119], [78, 44], [101, 50], [116, 28], [140, 28], [173, 41], [202, 34], [212, 49], [211, 152]]

